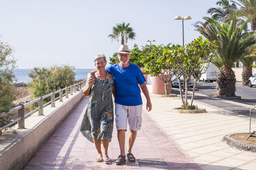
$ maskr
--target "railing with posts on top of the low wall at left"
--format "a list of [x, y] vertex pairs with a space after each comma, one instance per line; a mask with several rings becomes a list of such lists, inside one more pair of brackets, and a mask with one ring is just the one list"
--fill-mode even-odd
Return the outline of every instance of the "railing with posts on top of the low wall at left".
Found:
[[[18, 122], [19, 129], [24, 129], [25, 128], [25, 119], [35, 113], [35, 111], [38, 111], [38, 116], [43, 116], [44, 115], [44, 106], [47, 106], [48, 104], [51, 104], [52, 107], [55, 107], [55, 101], [60, 99], [60, 102], [63, 102], [63, 96], [68, 98], [68, 94], [73, 95], [73, 92], [79, 91], [79, 89], [82, 89], [82, 87], [85, 86], [86, 80], [80, 81], [79, 83], [76, 83], [74, 85], [70, 85], [69, 87], [65, 87], [64, 89], [57, 90], [56, 92], [52, 92], [51, 94], [46, 94], [45, 96], [38, 97], [37, 99], [34, 99], [33, 101], [29, 101], [28, 103], [20, 104], [19, 106], [12, 108], [8, 112], [3, 112], [0, 114], [0, 118], [4, 117], [6, 115], [9, 115], [10, 113], [13, 113], [14, 111], [18, 111], [18, 118], [13, 120], [7, 125], [4, 125], [3, 127], [0, 128], [0, 131], [3, 129], [6, 129], [7, 127], [10, 127], [11, 125], [15, 124]], [[69, 90], [68, 90], [69, 89]], [[63, 90], [65, 90], [65, 94], [63, 94]], [[55, 97], [56, 94], [60, 94], [59, 97]], [[47, 97], [51, 96], [51, 101], [47, 103], [43, 103], [44, 99]], [[30, 106], [33, 103], [38, 103], [38, 108], [36, 108], [33, 111], [29, 111], [26, 115], [24, 114], [25, 110], [24, 108], [26, 106]]]

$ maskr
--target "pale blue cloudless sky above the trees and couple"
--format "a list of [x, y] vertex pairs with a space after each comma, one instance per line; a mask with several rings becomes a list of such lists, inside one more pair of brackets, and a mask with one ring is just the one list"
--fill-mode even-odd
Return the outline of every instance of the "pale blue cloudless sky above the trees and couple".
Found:
[[182, 44], [182, 21], [176, 15], [191, 16], [184, 21], [184, 39], [189, 43], [200, 36], [193, 24], [207, 16], [217, 0], [0, 0], [0, 41], [14, 48], [20, 69], [61, 66], [94, 68], [93, 58], [107, 58], [118, 50], [120, 42], [108, 35], [117, 23], [130, 23], [136, 39], [128, 41], [144, 46]]

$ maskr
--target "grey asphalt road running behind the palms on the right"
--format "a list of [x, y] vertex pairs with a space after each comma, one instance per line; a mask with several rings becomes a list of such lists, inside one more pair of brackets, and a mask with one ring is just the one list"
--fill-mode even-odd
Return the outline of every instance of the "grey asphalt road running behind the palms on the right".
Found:
[[[256, 104], [256, 87], [243, 86], [241, 83], [237, 83], [236, 96], [241, 96], [241, 99], [220, 99], [213, 97], [217, 92], [216, 82], [198, 82], [198, 85], [199, 90], [196, 91], [195, 96], [197, 101], [222, 108], [229, 113], [238, 113], [239, 115], [248, 117], [250, 108]], [[172, 93], [179, 94], [179, 89], [172, 88]], [[253, 112], [253, 118], [256, 118], [256, 110]]]

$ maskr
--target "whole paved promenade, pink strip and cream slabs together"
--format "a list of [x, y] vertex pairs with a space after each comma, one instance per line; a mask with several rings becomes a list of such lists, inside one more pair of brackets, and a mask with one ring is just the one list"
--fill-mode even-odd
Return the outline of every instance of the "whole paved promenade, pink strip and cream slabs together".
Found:
[[[132, 151], [135, 163], [116, 166], [95, 162], [93, 143], [79, 132], [84, 97], [24, 169], [255, 169], [256, 153], [231, 148], [222, 141], [226, 134], [248, 132], [248, 117], [198, 101], [195, 104], [207, 113], [175, 113], [179, 97], [151, 95], [151, 99], [153, 109], [143, 111], [143, 127]], [[252, 130], [255, 127], [253, 121]], [[116, 159], [118, 155], [114, 127], [109, 157]]]

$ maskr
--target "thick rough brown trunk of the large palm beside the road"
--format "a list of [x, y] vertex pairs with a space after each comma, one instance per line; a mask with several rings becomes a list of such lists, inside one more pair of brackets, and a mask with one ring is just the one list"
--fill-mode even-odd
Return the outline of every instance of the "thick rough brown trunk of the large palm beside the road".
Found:
[[236, 75], [232, 68], [221, 67], [217, 82], [217, 96], [236, 96]]

